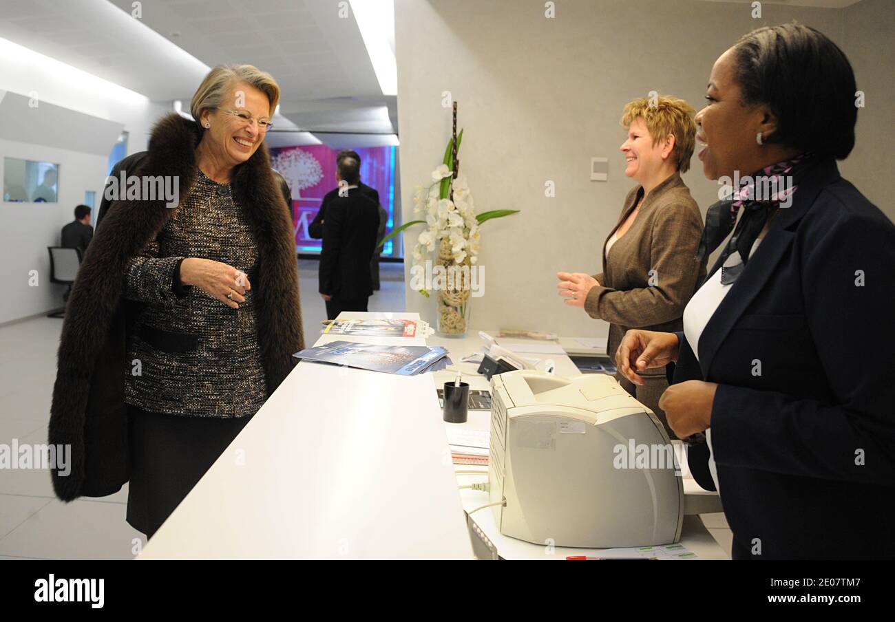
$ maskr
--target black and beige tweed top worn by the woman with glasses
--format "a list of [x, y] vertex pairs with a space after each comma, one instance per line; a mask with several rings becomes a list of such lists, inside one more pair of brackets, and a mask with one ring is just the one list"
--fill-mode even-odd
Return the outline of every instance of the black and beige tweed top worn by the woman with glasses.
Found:
[[186, 200], [127, 269], [125, 297], [144, 302], [128, 335], [124, 400], [153, 413], [244, 417], [267, 399], [252, 290], [231, 309], [198, 287], [175, 292], [186, 257], [226, 263], [255, 274], [251, 224], [229, 183], [201, 170]]

